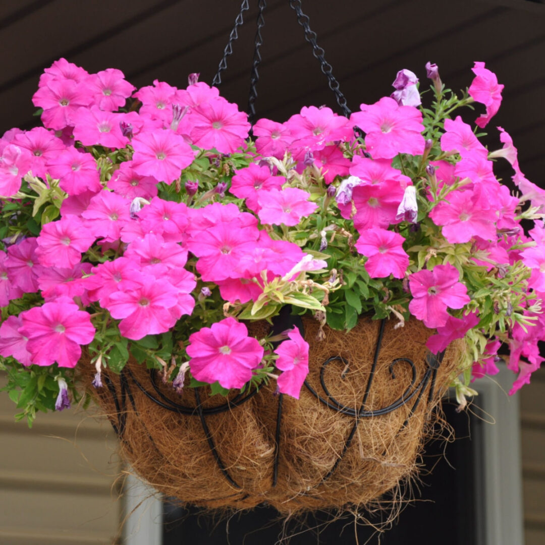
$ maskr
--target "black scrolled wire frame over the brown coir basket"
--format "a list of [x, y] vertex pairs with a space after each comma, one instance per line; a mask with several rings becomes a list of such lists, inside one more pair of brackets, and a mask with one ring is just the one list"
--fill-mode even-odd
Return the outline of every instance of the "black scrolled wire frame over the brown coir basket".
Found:
[[[413, 361], [411, 361], [408, 358], [396, 358], [395, 360], [393, 360], [389, 366], [389, 372], [392, 379], [396, 378], [395, 369], [397, 366], [408, 365], [411, 370], [411, 379], [410, 379], [409, 385], [405, 388], [402, 395], [398, 397], [395, 401], [387, 405], [387, 407], [381, 407], [379, 409], [366, 409], [366, 403], [373, 386], [373, 380], [374, 380], [374, 376], [377, 369], [380, 348], [381, 348], [383, 335], [384, 335], [384, 326], [385, 326], [385, 320], [381, 320], [378, 338], [377, 338], [377, 344], [376, 344], [374, 357], [373, 357], [373, 364], [371, 366], [370, 374], [367, 379], [365, 393], [362, 398], [361, 405], [359, 407], [355, 407], [355, 408], [348, 407], [347, 405], [344, 405], [343, 403], [338, 401], [334, 396], [331, 395], [331, 392], [328, 389], [328, 385], [325, 383], [326, 368], [329, 365], [334, 364], [335, 362], [339, 362], [340, 364], [344, 366], [344, 370], [341, 373], [341, 379], [344, 380], [346, 378], [346, 374], [349, 371], [349, 366], [350, 366], [350, 362], [346, 358], [343, 358], [342, 356], [332, 356], [331, 358], [328, 358], [327, 360], [325, 360], [323, 364], [321, 365], [319, 380], [320, 380], [320, 386], [322, 386], [324, 395], [320, 395], [314, 389], [314, 387], [311, 386], [307, 380], [305, 380], [304, 384], [306, 388], [308, 389], [308, 391], [310, 391], [310, 393], [314, 397], [318, 399], [320, 403], [326, 405], [326, 407], [329, 407], [332, 410], [335, 410], [337, 413], [346, 415], [347, 417], [352, 417], [354, 419], [352, 428], [350, 429], [350, 432], [348, 433], [348, 437], [346, 438], [344, 442], [341, 455], [336, 459], [335, 463], [332, 465], [329, 471], [322, 477], [321, 482], [325, 482], [326, 480], [329, 479], [329, 477], [331, 477], [332, 474], [335, 473], [335, 470], [338, 468], [345, 453], [347, 452], [350, 445], [352, 444], [354, 435], [362, 419], [373, 418], [376, 416], [381, 416], [381, 415], [391, 413], [392, 411], [398, 409], [399, 407], [402, 407], [403, 405], [407, 404], [409, 401], [411, 401], [411, 399], [414, 399], [413, 406], [411, 407], [409, 411], [407, 419], [405, 419], [401, 429], [399, 430], [399, 432], [401, 432], [401, 430], [405, 426], [407, 426], [409, 418], [414, 414], [416, 408], [420, 404], [422, 396], [424, 395], [424, 392], [426, 391], [428, 384], [429, 384], [429, 392], [427, 397], [428, 402], [431, 401], [433, 398], [433, 393], [435, 389], [435, 379], [437, 377], [437, 370], [439, 368], [439, 365], [441, 364], [441, 361], [443, 360], [444, 352], [439, 353], [437, 356], [433, 354], [428, 354], [428, 357], [426, 360], [427, 369], [424, 372], [423, 377], [418, 384], [416, 384], [416, 380], [417, 380], [416, 365], [414, 364]], [[285, 329], [285, 324], [283, 327]], [[135, 377], [135, 375], [131, 372], [129, 367], [125, 367], [120, 374], [119, 389], [116, 389], [116, 386], [114, 386], [111, 379], [108, 378], [107, 375], [105, 375], [104, 378], [106, 381], [107, 389], [113, 398], [113, 403], [117, 411], [117, 420], [114, 419], [113, 416], [111, 416], [112, 427], [121, 440], [124, 441], [128, 401], [132, 405], [132, 410], [134, 410], [134, 412], [138, 414], [134, 396], [132, 395], [131, 388], [130, 388], [130, 382], [129, 382], [129, 379], [130, 379], [132, 384], [136, 385], [136, 387], [139, 390], [141, 390], [144, 393], [144, 395], [146, 395], [146, 397], [150, 399], [150, 401], [153, 401], [155, 404], [159, 405], [159, 407], [172, 411], [174, 413], [178, 413], [180, 415], [198, 417], [199, 421], [201, 422], [201, 426], [202, 426], [205, 438], [207, 439], [208, 447], [210, 449], [211, 454], [213, 455], [215, 459], [217, 467], [220, 469], [221, 473], [223, 474], [225, 479], [229, 482], [229, 484], [233, 488], [238, 490], [238, 492], [236, 494], [233, 494], [233, 496], [237, 496], [238, 494], [244, 493], [243, 487], [241, 487], [233, 479], [231, 474], [229, 474], [229, 471], [226, 468], [225, 464], [222, 462], [221, 455], [220, 455], [220, 452], [217, 450], [217, 446], [215, 444], [213, 434], [210, 432], [210, 428], [208, 427], [207, 416], [223, 413], [225, 411], [232, 410], [238, 407], [239, 405], [242, 405], [243, 403], [249, 401], [253, 396], [255, 396], [258, 393], [257, 388], [247, 391], [245, 393], [238, 393], [233, 398], [229, 399], [225, 403], [222, 403], [221, 405], [217, 405], [216, 407], [203, 407], [201, 402], [201, 393], [200, 393], [201, 389], [197, 387], [193, 389], [195, 394], [195, 407], [190, 407], [188, 405], [184, 405], [184, 404], [173, 401], [171, 398], [167, 397], [160, 390], [159, 383], [158, 383], [158, 373], [156, 370], [149, 371], [149, 375], [147, 377], [149, 384], [146, 384], [146, 385], [142, 384], [142, 382]], [[281, 438], [281, 429], [282, 429], [283, 394], [278, 395], [277, 399], [278, 399], [278, 404], [277, 404], [276, 429], [275, 429], [275, 451], [274, 451], [273, 475], [272, 475], [273, 487], [276, 486], [278, 481], [278, 465], [280, 462], [280, 452], [281, 452], [280, 438]], [[148, 432], [148, 437], [153, 443], [153, 438], [151, 437], [149, 432]], [[128, 446], [130, 448], [130, 445]], [[246, 497], [247, 496], [244, 496], [244, 498], [238, 498], [238, 500], [245, 499]]]

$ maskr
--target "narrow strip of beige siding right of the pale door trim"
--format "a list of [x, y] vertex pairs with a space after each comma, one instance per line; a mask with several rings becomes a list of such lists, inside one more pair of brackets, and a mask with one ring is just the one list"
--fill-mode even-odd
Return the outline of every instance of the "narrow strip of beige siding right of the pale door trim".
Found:
[[545, 368], [520, 391], [524, 534], [526, 545], [545, 543]]

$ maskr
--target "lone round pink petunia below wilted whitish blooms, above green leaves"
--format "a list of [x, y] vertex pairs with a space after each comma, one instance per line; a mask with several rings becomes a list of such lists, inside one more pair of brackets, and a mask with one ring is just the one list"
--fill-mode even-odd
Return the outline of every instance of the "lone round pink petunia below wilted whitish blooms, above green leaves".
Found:
[[372, 278], [393, 275], [403, 278], [409, 267], [409, 256], [403, 250], [405, 239], [398, 233], [372, 227], [365, 229], [356, 242], [356, 250], [368, 259], [365, 270]]

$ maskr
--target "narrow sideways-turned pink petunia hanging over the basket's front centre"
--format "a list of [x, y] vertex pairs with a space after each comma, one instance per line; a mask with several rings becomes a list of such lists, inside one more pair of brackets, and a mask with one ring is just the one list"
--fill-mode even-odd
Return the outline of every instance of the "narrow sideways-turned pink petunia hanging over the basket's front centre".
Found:
[[294, 327], [288, 332], [289, 341], [283, 341], [274, 351], [278, 354], [275, 366], [283, 373], [276, 379], [280, 393], [299, 399], [301, 387], [308, 374], [308, 343]]

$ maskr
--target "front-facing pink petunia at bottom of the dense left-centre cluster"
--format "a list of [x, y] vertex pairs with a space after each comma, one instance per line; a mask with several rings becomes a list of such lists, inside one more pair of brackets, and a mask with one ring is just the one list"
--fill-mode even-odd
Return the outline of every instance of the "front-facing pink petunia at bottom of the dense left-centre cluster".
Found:
[[144, 276], [143, 280], [142, 286], [131, 291], [111, 293], [106, 307], [112, 318], [121, 319], [119, 332], [135, 341], [165, 333], [179, 318], [170, 311], [178, 304], [177, 289], [169, 282], [156, 281], [154, 276]]

